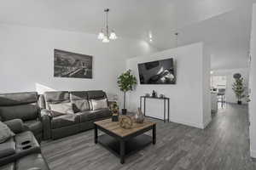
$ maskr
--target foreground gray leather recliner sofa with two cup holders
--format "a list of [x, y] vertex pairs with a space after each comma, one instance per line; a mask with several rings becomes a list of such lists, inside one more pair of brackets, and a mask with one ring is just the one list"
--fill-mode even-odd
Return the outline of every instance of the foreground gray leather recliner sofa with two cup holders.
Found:
[[20, 119], [4, 122], [15, 133], [15, 136], [0, 144], [0, 169], [49, 170], [44, 156], [41, 155], [40, 145]]

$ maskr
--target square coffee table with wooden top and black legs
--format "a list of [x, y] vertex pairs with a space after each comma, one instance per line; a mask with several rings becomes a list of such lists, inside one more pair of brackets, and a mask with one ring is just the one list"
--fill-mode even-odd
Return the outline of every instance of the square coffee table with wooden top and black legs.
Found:
[[[119, 122], [112, 122], [111, 119], [94, 122], [95, 143], [102, 144], [115, 156], [120, 158], [120, 163], [125, 163], [125, 157], [142, 150], [148, 144], [156, 142], [156, 123], [145, 121], [133, 123], [131, 129], [119, 127]], [[98, 129], [104, 132], [98, 136]], [[152, 137], [143, 134], [152, 130]]]

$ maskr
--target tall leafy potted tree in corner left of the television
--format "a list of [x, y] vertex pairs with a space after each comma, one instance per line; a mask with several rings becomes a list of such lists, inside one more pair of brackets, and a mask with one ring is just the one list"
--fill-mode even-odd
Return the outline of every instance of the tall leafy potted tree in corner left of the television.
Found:
[[125, 95], [126, 92], [131, 91], [133, 86], [137, 84], [137, 79], [135, 76], [131, 75], [131, 70], [125, 71], [118, 77], [118, 85], [122, 92], [124, 92], [124, 109], [122, 109], [122, 114], [126, 115], [125, 108]]

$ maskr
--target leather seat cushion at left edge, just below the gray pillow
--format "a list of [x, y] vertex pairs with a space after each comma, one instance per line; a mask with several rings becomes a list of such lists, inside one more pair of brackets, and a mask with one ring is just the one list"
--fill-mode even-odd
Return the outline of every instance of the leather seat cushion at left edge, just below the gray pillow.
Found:
[[0, 144], [0, 158], [4, 156], [10, 156], [15, 154], [15, 141], [14, 138], [10, 138], [3, 144]]

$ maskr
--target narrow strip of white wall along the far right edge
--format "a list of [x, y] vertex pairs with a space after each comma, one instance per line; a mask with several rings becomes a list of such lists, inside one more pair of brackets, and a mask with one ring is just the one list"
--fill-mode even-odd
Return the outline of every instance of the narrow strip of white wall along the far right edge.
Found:
[[249, 103], [249, 119], [250, 119], [250, 145], [251, 156], [256, 158], [256, 3], [253, 4], [253, 20], [252, 20], [252, 35], [251, 35], [251, 68], [250, 82], [251, 88]]

